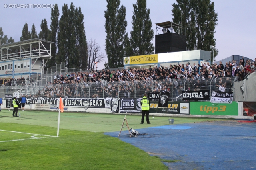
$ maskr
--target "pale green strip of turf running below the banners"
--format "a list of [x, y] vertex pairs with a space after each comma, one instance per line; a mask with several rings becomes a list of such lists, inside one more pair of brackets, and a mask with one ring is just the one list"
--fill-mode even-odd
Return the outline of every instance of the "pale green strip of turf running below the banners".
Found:
[[[21, 117], [12, 117], [12, 111], [3, 110], [0, 112], [0, 121], [7, 123], [19, 123], [25, 125], [41, 125], [57, 128], [57, 111], [20, 111]], [[2, 115], [2, 116], [1, 116]], [[168, 118], [162, 116], [150, 116], [151, 124], [140, 124], [141, 115], [127, 115], [127, 121], [130, 128], [140, 129], [152, 126], [169, 125]], [[194, 123], [203, 121], [220, 121], [226, 119], [216, 118], [189, 118], [172, 117], [175, 124]], [[60, 116], [60, 128], [69, 130], [82, 130], [91, 132], [113, 132], [120, 131], [124, 120], [124, 115], [103, 114], [103, 113], [74, 113], [63, 112]], [[146, 121], [146, 117], [144, 119]], [[61, 135], [61, 131], [60, 131]]]

